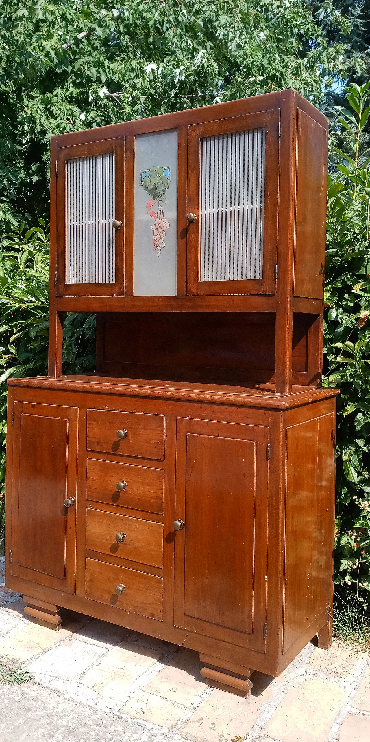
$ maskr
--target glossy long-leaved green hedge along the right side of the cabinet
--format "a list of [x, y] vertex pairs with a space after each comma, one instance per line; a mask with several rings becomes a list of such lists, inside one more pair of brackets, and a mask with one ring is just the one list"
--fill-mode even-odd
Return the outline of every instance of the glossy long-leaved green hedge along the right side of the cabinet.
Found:
[[347, 88], [347, 151], [328, 178], [326, 376], [340, 388], [335, 582], [360, 601], [370, 589], [370, 171], [364, 129], [370, 82]]

